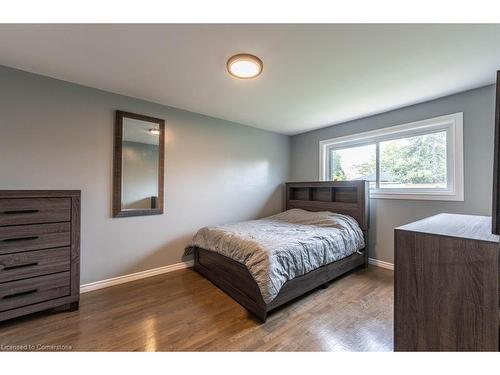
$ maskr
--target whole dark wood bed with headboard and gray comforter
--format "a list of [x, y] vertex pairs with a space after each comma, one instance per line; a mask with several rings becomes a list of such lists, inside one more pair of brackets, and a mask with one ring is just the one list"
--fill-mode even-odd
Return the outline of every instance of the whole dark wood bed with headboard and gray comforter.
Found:
[[[282, 237], [286, 238], [293, 231], [300, 232], [302, 228], [307, 231], [307, 228], [310, 228], [310, 238], [304, 240], [299, 236], [300, 246], [295, 247], [299, 250], [306, 249], [302, 250], [303, 252], [297, 258], [306, 258], [307, 260], [307, 246], [314, 245], [314, 241], [322, 241], [321, 244], [318, 244], [318, 247], [320, 249], [327, 248], [328, 243], [335, 238], [328, 238], [328, 232], [323, 227], [329, 226], [331, 220], [337, 223], [336, 227], [342, 230], [343, 237], [336, 241], [341, 247], [342, 244], [345, 244], [340, 257], [338, 252], [337, 255], [327, 257], [326, 254], [330, 254], [330, 252], [325, 251], [325, 255], [322, 255], [325, 264], [316, 268], [314, 264], [309, 264], [314, 262], [305, 262], [307, 267], [304, 266], [298, 271], [292, 270], [293, 278], [286, 281], [281, 280], [282, 282], [278, 283], [279, 288], [270, 288], [270, 292], [263, 289], [262, 280], [256, 274], [257, 271], [253, 265], [253, 263], [262, 263], [262, 259], [254, 260], [252, 266], [247, 267], [245, 264], [250, 264], [249, 259], [240, 259], [233, 256], [233, 253], [237, 254], [237, 251], [232, 251], [233, 249], [227, 248], [227, 246], [224, 253], [224, 251], [214, 251], [213, 248], [209, 250], [210, 246], [203, 248], [200, 245], [209, 242], [200, 241], [199, 238], [203, 238], [203, 234], [206, 235], [210, 231], [214, 232], [217, 227], [215, 229], [203, 228], [200, 230], [188, 247], [188, 251], [194, 257], [194, 270], [226, 292], [260, 321], [265, 322], [268, 313], [277, 307], [319, 286], [326, 286], [328, 282], [346, 272], [368, 265], [368, 202], [368, 182], [366, 181], [286, 183], [285, 212], [283, 214], [262, 220], [231, 224], [232, 227], [228, 226], [227, 230], [224, 229], [226, 228], [224, 226], [218, 227], [220, 229], [218, 232], [224, 233], [227, 240], [228, 236], [238, 233], [234, 228], [238, 229], [238, 225], [242, 226], [247, 223], [244, 227], [247, 239], [254, 238], [259, 233], [259, 235], [263, 235], [263, 232], [268, 232], [270, 235], [267, 239], [268, 242], [280, 242], [276, 235], [283, 235]], [[305, 210], [305, 212], [302, 210]], [[306, 224], [312, 222], [313, 224], [319, 223], [319, 225], [298, 225], [296, 222], [299, 216], [301, 220], [306, 220]], [[324, 224], [325, 220], [328, 220], [328, 225]], [[272, 225], [275, 227], [272, 227]], [[251, 228], [251, 230], [247, 227]], [[232, 232], [228, 234], [229, 229]], [[202, 231], [206, 232], [203, 233]], [[280, 231], [283, 231], [283, 233]], [[358, 239], [358, 242], [349, 244], [349, 242], [352, 242], [350, 237], [356, 237], [356, 233], [360, 233], [361, 240]], [[275, 235], [275, 237], [272, 237], [272, 235]], [[197, 241], [195, 241], [196, 238], [198, 238]], [[221, 242], [222, 237], [216, 238], [212, 242], [217, 241]], [[247, 245], [252, 245], [251, 241], [247, 241]], [[236, 243], [234, 246], [236, 247]], [[277, 243], [276, 246], [283, 245]], [[357, 246], [355, 251], [353, 251], [354, 246]], [[312, 248], [314, 249], [314, 247]], [[306, 251], [305, 257], [304, 251]], [[279, 276], [280, 273], [283, 273], [283, 270], [289, 267], [289, 264], [291, 263], [285, 262], [285, 265], [281, 264], [281, 268], [274, 272]], [[271, 266], [268, 265], [268, 267]]]

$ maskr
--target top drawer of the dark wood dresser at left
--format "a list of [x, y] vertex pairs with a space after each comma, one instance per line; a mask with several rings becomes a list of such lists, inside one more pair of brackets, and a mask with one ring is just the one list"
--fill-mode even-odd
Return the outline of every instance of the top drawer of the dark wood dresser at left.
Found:
[[0, 198], [0, 226], [71, 220], [71, 198]]

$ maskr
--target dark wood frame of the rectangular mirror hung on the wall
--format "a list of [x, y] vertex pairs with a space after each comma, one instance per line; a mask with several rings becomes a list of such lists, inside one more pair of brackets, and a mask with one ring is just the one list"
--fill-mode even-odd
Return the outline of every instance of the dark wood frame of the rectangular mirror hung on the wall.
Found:
[[[123, 119], [147, 121], [157, 124], [160, 129], [159, 135], [159, 161], [158, 161], [158, 199], [157, 208], [147, 210], [122, 210], [122, 142], [123, 142]], [[161, 215], [163, 214], [163, 179], [165, 165], [165, 120], [138, 115], [136, 113], [116, 111], [115, 135], [114, 135], [114, 160], [113, 160], [113, 217]]]

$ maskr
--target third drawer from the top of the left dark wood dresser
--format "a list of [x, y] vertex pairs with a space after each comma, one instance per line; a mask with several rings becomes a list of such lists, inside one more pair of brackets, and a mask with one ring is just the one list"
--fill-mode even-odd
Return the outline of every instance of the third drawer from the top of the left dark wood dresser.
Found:
[[0, 283], [69, 271], [70, 248], [0, 255]]

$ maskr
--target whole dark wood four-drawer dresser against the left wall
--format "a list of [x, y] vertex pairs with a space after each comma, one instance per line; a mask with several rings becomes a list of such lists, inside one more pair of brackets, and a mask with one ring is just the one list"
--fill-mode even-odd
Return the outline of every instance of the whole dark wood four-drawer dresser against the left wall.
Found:
[[80, 191], [0, 190], [0, 321], [80, 298]]

